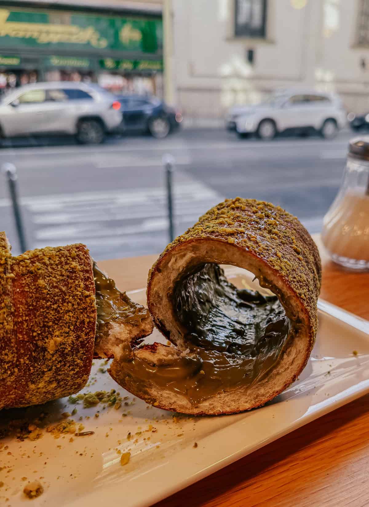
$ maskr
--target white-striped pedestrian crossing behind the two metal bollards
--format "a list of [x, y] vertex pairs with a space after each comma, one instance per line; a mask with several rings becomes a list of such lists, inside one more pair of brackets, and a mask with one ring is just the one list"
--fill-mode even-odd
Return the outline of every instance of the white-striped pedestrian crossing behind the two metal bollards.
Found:
[[[177, 231], [184, 231], [209, 207], [223, 200], [196, 180], [179, 182], [173, 194]], [[166, 199], [165, 188], [157, 187], [23, 197], [20, 203], [35, 226], [35, 246], [84, 241], [101, 250], [103, 245], [111, 248], [127, 241], [136, 247], [147, 246], [153, 234], [157, 235], [156, 241], [165, 241]], [[0, 207], [9, 204], [6, 199], [0, 200]]]

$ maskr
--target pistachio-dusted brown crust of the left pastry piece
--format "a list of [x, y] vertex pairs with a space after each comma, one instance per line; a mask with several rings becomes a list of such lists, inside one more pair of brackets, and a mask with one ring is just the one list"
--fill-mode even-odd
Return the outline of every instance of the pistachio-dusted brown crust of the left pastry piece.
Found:
[[87, 247], [47, 247], [12, 258], [5, 238], [1, 233], [0, 409], [45, 403], [84, 387], [96, 330]]

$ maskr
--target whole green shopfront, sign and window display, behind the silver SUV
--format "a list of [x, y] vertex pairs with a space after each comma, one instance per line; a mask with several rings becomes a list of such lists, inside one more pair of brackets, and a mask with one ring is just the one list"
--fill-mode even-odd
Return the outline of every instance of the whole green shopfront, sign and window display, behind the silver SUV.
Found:
[[[0, 95], [36, 82], [68, 81], [98, 83], [113, 93], [162, 96], [159, 12], [113, 16], [0, 7], [0, 18], [6, 33], [0, 34]], [[38, 30], [32, 30], [34, 23]]]

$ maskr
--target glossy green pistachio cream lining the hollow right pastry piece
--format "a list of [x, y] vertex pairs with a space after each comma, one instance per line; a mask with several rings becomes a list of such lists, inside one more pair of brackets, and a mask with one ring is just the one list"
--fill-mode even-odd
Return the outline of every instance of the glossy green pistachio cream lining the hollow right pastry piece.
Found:
[[187, 330], [186, 354], [161, 366], [127, 354], [124, 370], [137, 384], [150, 380], [187, 396], [193, 405], [263, 378], [296, 332], [276, 296], [238, 289], [216, 264], [183, 276], [172, 304]]

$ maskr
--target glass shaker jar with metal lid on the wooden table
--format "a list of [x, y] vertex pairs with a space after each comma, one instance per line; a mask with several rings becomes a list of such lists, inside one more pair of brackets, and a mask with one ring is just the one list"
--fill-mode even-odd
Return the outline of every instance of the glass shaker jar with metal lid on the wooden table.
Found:
[[341, 188], [324, 216], [322, 242], [337, 264], [369, 270], [369, 136], [349, 143]]

